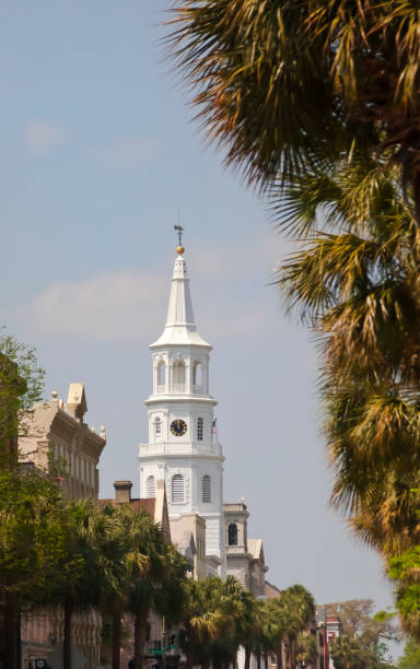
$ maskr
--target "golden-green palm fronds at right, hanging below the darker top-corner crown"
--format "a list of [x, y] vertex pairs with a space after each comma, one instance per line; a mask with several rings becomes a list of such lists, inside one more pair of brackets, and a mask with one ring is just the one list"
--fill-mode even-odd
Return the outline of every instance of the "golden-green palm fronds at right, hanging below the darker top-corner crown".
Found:
[[305, 237], [279, 281], [318, 336], [332, 502], [373, 545], [402, 548], [418, 537], [417, 225], [396, 176], [358, 160], [296, 181], [281, 215]]

